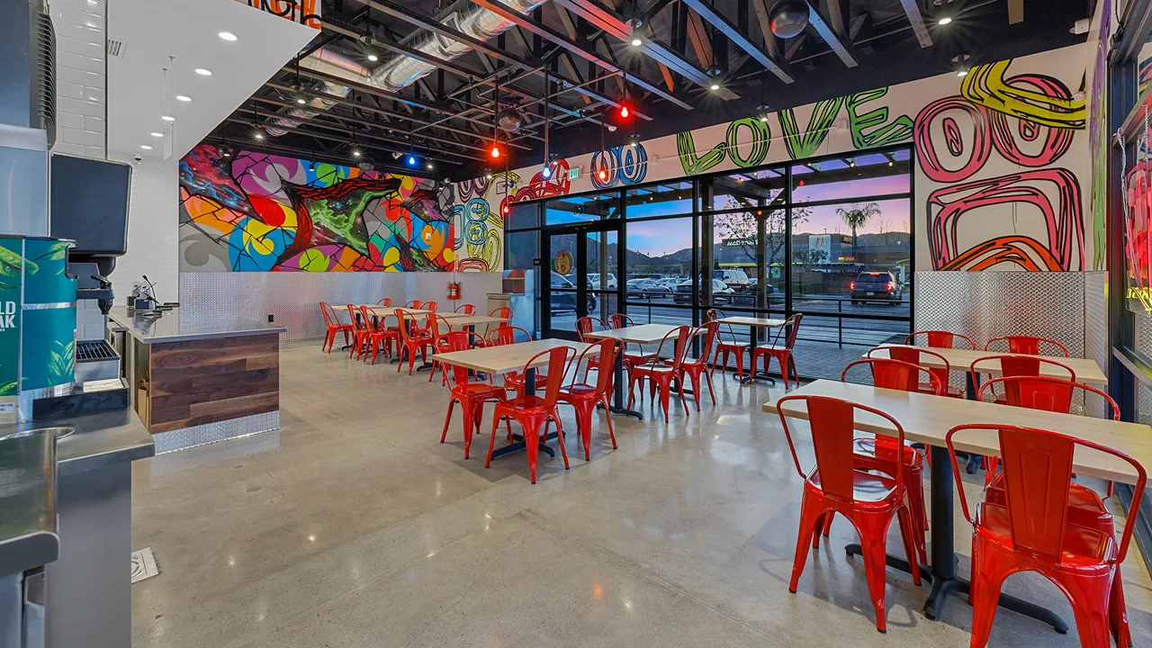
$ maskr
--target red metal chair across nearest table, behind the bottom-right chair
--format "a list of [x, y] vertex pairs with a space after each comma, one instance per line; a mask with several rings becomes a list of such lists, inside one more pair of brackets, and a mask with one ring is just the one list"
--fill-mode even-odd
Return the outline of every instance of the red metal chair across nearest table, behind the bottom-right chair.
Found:
[[[1028, 407], [1031, 409], [1045, 409], [1048, 412], [1061, 412], [1067, 414], [1071, 409], [1073, 395], [1076, 390], [1083, 390], [1099, 395], [1112, 409], [1113, 421], [1120, 420], [1120, 406], [1115, 400], [1102, 391], [1081, 383], [1073, 383], [1062, 378], [1048, 378], [1046, 376], [1013, 376], [1009, 378], [993, 378], [980, 387], [983, 391], [991, 383], [1016, 383], [1016, 389], [1006, 389], [1009, 397], [1008, 405], [1014, 407]], [[982, 398], [983, 400], [983, 398]], [[1003, 490], [1003, 473], [998, 473], [999, 458], [988, 458], [988, 472], [985, 474], [985, 499], [993, 504], [1003, 506], [1006, 499]], [[1073, 482], [1068, 490], [1068, 521], [1082, 527], [1097, 527], [1107, 535], [1115, 533], [1112, 513], [1105, 506], [1104, 499], [1112, 497], [1113, 483], [1108, 482], [1107, 493], [1101, 499], [1094, 490]], [[1128, 628], [1128, 611], [1124, 609], [1124, 589], [1120, 578], [1120, 567], [1116, 567], [1116, 578], [1113, 581], [1113, 605], [1112, 605], [1112, 632], [1116, 638], [1116, 646], [1130, 646], [1131, 632]]]

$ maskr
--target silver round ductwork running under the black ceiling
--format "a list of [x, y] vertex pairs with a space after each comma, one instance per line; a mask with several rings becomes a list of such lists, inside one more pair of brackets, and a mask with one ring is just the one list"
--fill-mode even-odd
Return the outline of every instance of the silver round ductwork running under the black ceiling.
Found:
[[[505, 1], [508, 7], [520, 12], [521, 14], [528, 14], [545, 2], [547, 2], [547, 0]], [[494, 14], [473, 5], [471, 0], [458, 0], [441, 12], [435, 20], [445, 27], [453, 28], [465, 36], [476, 38], [477, 40], [488, 40], [490, 38], [503, 33], [516, 24], [499, 14]], [[471, 50], [471, 46], [465, 43], [452, 40], [450, 38], [445, 38], [426, 30], [417, 30], [410, 33], [408, 37], [402, 39], [400, 44], [410, 50], [417, 50], [432, 58], [444, 60], [456, 59]], [[397, 92], [401, 89], [416, 83], [418, 80], [424, 78], [435, 69], [435, 66], [431, 63], [426, 63], [411, 56], [396, 55], [384, 61], [376, 69], [369, 70], [358, 62], [357, 59], [359, 58], [361, 56], [357, 54], [329, 45], [313, 52], [310, 56], [305, 56], [300, 61], [300, 67], [328, 76], [335, 76], [364, 85], [370, 85], [372, 88], [378, 88], [386, 92]], [[351, 89], [347, 85], [340, 85], [338, 83], [324, 82], [324, 92], [328, 95], [347, 97], [351, 91]], [[306, 107], [285, 108], [282, 112], [286, 116], [275, 118], [272, 120], [272, 123], [285, 127], [296, 127], [300, 125], [298, 120], [316, 116], [319, 111], [329, 110], [334, 105], [336, 105], [334, 101], [313, 98], [308, 103]], [[275, 128], [275, 126], [270, 126], [266, 130], [268, 135], [275, 136], [288, 133], [286, 128]]]

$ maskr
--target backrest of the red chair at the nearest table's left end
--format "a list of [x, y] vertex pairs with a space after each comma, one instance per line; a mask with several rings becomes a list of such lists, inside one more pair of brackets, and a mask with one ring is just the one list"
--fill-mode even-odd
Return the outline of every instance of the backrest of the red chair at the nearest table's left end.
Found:
[[[799, 465], [799, 457], [796, 454], [796, 444], [793, 442], [791, 430], [788, 428], [788, 416], [785, 407], [788, 402], [803, 401], [808, 409], [809, 427], [812, 430], [812, 449], [816, 451], [816, 468], [820, 472], [820, 485], [825, 495], [851, 502], [855, 498], [854, 482], [854, 457], [852, 442], [856, 436], [855, 416], [856, 410], [869, 412], [892, 423], [896, 430], [896, 436], [888, 438], [893, 446], [904, 445], [904, 428], [900, 422], [880, 412], [849, 400], [829, 398], [823, 395], [786, 395], [776, 401], [776, 409], [780, 414], [780, 423], [785, 428], [785, 437], [788, 439], [788, 449], [791, 450], [793, 461], [796, 464], [796, 472], [802, 477], [808, 477], [811, 470], [805, 473]], [[881, 437], [877, 437], [879, 442]], [[887, 437], [885, 437], [887, 438]], [[903, 470], [893, 470], [896, 477], [896, 490], [903, 489]]]

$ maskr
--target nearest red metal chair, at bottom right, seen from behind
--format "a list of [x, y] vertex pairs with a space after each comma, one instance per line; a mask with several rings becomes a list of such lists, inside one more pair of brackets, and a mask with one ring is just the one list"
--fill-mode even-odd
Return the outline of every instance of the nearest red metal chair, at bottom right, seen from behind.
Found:
[[[976, 517], [969, 512], [956, 469], [953, 437], [972, 429], [994, 429], [1003, 461], [1003, 500], [985, 499]], [[1082, 646], [1107, 647], [1113, 582], [1128, 553], [1136, 515], [1129, 515], [1120, 542], [1099, 527], [1074, 523], [1069, 515], [1073, 457], [1076, 446], [1127, 461], [1136, 472], [1131, 510], [1139, 502], [1147, 474], [1138, 461], [1111, 447], [1037, 428], [969, 423], [945, 436], [960, 504], [972, 525], [972, 648], [987, 645], [1003, 580], [1016, 572], [1037, 572], [1064, 593], [1076, 617]]]

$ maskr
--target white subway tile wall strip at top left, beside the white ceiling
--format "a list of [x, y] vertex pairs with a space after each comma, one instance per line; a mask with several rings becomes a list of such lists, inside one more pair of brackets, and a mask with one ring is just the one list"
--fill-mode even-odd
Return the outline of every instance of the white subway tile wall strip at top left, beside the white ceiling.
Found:
[[107, 157], [104, 0], [52, 0], [56, 31], [56, 143], [52, 150]]

